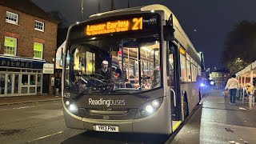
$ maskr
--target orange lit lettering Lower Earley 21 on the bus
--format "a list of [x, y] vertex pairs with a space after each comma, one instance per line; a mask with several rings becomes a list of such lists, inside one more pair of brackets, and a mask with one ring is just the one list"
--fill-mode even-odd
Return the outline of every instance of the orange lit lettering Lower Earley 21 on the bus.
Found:
[[118, 20], [114, 22], [87, 25], [85, 34], [87, 36], [94, 36], [130, 30], [142, 30], [142, 18], [132, 18], [130, 20]]

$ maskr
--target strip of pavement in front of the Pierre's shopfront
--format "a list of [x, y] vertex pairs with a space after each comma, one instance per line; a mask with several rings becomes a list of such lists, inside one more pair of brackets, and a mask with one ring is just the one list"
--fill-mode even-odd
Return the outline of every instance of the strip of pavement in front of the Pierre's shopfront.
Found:
[[30, 102], [47, 102], [61, 100], [62, 96], [55, 95], [29, 95], [29, 96], [15, 96], [15, 97], [0, 97], [0, 106], [13, 105], [19, 103]]

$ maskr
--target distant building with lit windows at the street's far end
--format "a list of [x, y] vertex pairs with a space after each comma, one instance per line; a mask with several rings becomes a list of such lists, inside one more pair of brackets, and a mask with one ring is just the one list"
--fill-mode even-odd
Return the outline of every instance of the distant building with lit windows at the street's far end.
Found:
[[230, 72], [227, 70], [214, 70], [210, 73], [210, 80], [213, 80], [218, 88], [224, 88], [229, 78]]

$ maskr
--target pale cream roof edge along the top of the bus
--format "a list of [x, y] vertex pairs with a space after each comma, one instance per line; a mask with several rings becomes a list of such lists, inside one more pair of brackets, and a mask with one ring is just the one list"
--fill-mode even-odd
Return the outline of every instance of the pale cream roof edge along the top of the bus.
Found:
[[[169, 19], [170, 14], [173, 14], [173, 12], [167, 8], [166, 6], [159, 5], [159, 4], [154, 4], [154, 5], [149, 5], [149, 6], [138, 6], [138, 7], [132, 7], [132, 8], [126, 8], [126, 9], [121, 9], [121, 10], [112, 10], [112, 11], [107, 11], [104, 13], [99, 13], [99, 14], [93, 14], [90, 15], [90, 19], [95, 19], [95, 18], [105, 18], [109, 16], [114, 16], [114, 15], [120, 15], [120, 14], [134, 14], [134, 13], [139, 13], [139, 12], [146, 12], [146, 11], [151, 11], [151, 10], [162, 10], [166, 14], [165, 20]], [[173, 14], [173, 22], [174, 22], [174, 35], [175, 38], [178, 40], [178, 42], [184, 47], [187, 51], [190, 51], [193, 53], [193, 57], [196, 57], [198, 61], [200, 61], [200, 58], [198, 57], [198, 52], [197, 50], [194, 49], [194, 46], [192, 42], [190, 42], [190, 39], [187, 37], [186, 33], [182, 29], [182, 26], [178, 22], [178, 19], [175, 17]]]

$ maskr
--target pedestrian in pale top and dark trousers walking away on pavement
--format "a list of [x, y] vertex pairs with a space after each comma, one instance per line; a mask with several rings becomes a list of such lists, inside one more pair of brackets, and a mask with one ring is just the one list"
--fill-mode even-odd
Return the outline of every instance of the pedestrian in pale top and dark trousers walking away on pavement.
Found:
[[235, 98], [236, 98], [236, 93], [237, 93], [237, 89], [239, 87], [239, 82], [238, 80], [235, 78], [235, 74], [232, 75], [232, 78], [230, 78], [227, 83], [226, 83], [226, 87], [225, 90], [230, 90], [230, 104], [235, 105]]

